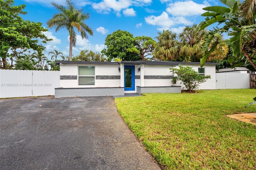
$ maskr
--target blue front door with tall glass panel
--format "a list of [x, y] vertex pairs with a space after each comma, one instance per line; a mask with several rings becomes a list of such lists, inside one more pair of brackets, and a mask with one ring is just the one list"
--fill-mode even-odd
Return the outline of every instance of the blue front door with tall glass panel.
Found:
[[135, 66], [124, 65], [124, 91], [135, 90]]

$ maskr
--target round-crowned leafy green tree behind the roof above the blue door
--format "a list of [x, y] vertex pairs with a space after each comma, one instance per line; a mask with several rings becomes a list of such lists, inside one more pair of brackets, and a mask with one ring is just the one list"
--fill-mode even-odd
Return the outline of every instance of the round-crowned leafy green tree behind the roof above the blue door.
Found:
[[152, 59], [152, 53], [154, 52], [154, 46], [156, 45], [156, 41], [153, 40], [151, 37], [141, 36], [134, 38], [135, 46], [132, 48], [128, 48], [128, 52], [137, 53], [141, 60]]

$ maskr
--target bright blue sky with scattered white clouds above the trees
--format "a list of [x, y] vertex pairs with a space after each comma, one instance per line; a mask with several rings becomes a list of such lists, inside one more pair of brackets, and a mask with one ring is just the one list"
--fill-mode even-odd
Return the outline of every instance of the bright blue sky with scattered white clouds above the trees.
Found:
[[[66, 5], [65, 0], [14, 0], [14, 5], [25, 4], [22, 15], [24, 20], [46, 22], [58, 11], [51, 2]], [[180, 33], [184, 26], [199, 24], [204, 18], [201, 16], [206, 6], [222, 6], [218, 0], [73, 0], [76, 8], [90, 13], [86, 24], [92, 28], [94, 34], [88, 39], [77, 37], [73, 55], [83, 49], [100, 52], [106, 48], [105, 38], [116, 30], [128, 31], [136, 36], [155, 38], [158, 32], [171, 30]], [[49, 51], [57, 49], [68, 56], [68, 31], [62, 29], [55, 32], [48, 28], [44, 33], [53, 41], [46, 44], [46, 56]], [[79, 35], [79, 34], [78, 34]]]

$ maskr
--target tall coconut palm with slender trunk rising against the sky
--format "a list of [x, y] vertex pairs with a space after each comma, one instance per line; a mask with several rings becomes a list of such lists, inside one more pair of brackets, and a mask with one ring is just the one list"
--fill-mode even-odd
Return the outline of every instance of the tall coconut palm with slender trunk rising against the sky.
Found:
[[68, 8], [56, 4], [55, 2], [52, 2], [51, 4], [60, 11], [60, 13], [54, 14], [52, 19], [48, 20], [47, 25], [49, 28], [54, 27], [56, 32], [61, 28], [66, 28], [68, 30], [70, 36], [69, 60], [72, 61], [72, 47], [76, 46], [76, 32], [74, 31], [74, 28], [80, 32], [82, 39], [88, 38], [86, 32], [91, 36], [93, 35], [92, 29], [84, 23], [84, 20], [87, 20], [90, 17], [90, 14], [82, 13], [82, 9], [75, 9], [71, 0], [66, 0]]

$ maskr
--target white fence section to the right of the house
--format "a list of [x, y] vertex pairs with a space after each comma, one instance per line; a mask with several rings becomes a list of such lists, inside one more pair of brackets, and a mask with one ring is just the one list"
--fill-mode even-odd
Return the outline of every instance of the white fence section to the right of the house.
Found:
[[250, 74], [216, 73], [216, 89], [250, 89]]

